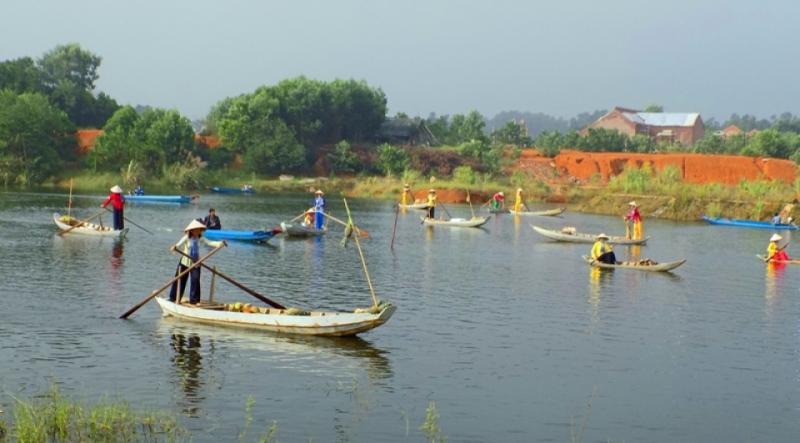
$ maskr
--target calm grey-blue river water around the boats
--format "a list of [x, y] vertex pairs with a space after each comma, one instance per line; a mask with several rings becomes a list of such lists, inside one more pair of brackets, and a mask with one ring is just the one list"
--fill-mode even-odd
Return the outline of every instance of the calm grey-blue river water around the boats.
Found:
[[[618, 255], [687, 263], [672, 274], [599, 272], [580, 259], [589, 245], [549, 242], [529, 223], [619, 234], [619, 218], [506, 215], [448, 229], [420, 226], [412, 211], [391, 251], [391, 203], [354, 200], [378, 295], [398, 310], [356, 339], [298, 338], [182, 323], [155, 302], [117, 317], [171, 277], [169, 246], [210, 206], [227, 229], [258, 229], [299, 213], [307, 195], [134, 205], [126, 215], [154, 235], [129, 225], [123, 242], [56, 235], [65, 200], [0, 194], [5, 411], [13, 395], [58, 383], [78, 399], [174, 412], [195, 441], [236, 439], [249, 396], [250, 435], [275, 421], [281, 441], [422, 441], [430, 401], [458, 442], [800, 435], [800, 266], [757, 261], [768, 231], [647, 220], [651, 242]], [[88, 216], [100, 197], [75, 202]], [[340, 200], [329, 205], [344, 215]], [[336, 227], [321, 239], [231, 244], [211, 263], [286, 305], [368, 306], [358, 256], [340, 239]], [[227, 283], [216, 297], [252, 301]]]

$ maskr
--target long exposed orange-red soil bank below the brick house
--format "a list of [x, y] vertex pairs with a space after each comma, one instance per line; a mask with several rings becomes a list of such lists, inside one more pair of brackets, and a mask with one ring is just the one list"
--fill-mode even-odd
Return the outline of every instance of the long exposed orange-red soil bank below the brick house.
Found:
[[619, 175], [626, 166], [642, 167], [644, 164], [649, 164], [656, 171], [674, 165], [688, 183], [734, 185], [742, 179], [770, 179], [793, 183], [797, 177], [797, 165], [793, 161], [737, 155], [590, 153], [564, 150], [554, 158], [554, 163], [561, 173], [581, 180], [588, 180], [597, 174], [607, 181], [610, 177]]

